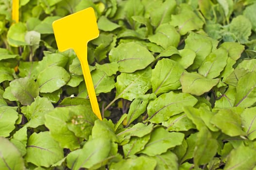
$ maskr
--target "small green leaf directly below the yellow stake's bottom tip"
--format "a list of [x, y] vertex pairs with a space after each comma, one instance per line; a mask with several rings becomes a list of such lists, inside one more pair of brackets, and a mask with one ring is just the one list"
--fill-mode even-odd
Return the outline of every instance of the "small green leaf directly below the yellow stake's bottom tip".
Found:
[[111, 120], [108, 121], [106, 119], [103, 119], [101, 121], [97, 119], [94, 122], [94, 126], [92, 128], [91, 134], [92, 134], [92, 139], [105, 137], [113, 142], [119, 141], [117, 135], [115, 134], [114, 124], [112, 123]]

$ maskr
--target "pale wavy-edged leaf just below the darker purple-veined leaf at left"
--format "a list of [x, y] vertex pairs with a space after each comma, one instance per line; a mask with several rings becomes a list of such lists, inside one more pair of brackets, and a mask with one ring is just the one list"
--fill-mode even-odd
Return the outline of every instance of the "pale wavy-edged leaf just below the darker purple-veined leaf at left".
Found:
[[31, 105], [27, 106], [24, 111], [22, 109], [22, 113], [28, 119], [26, 126], [36, 128], [43, 125], [45, 123], [45, 114], [53, 109], [54, 107], [49, 99], [36, 97]]

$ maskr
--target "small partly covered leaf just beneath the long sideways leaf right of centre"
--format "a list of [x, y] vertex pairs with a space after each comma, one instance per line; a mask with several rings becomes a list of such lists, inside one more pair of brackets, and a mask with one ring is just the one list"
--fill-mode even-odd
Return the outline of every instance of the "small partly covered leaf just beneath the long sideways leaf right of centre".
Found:
[[167, 127], [168, 131], [188, 131], [189, 129], [196, 129], [196, 126], [188, 119], [185, 113], [172, 116], [167, 121], [163, 121], [162, 125]]

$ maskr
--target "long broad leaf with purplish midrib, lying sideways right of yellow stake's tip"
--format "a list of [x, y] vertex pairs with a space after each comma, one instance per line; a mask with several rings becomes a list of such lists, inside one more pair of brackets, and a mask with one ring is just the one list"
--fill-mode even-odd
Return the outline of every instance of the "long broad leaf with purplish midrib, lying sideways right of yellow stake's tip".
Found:
[[147, 107], [149, 121], [152, 123], [161, 123], [168, 120], [171, 116], [183, 112], [183, 106], [194, 106], [197, 99], [187, 93], [164, 93], [149, 102]]

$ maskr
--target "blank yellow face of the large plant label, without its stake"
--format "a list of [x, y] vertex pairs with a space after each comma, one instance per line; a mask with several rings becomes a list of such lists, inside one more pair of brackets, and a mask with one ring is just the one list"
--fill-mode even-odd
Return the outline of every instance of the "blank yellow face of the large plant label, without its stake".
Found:
[[91, 7], [54, 21], [52, 27], [60, 51], [82, 48], [99, 36], [97, 19]]

